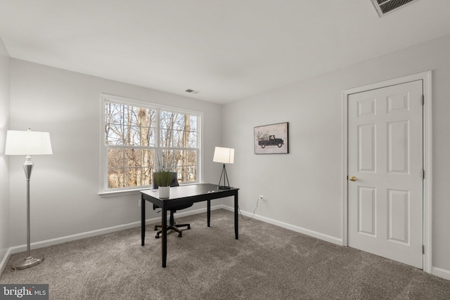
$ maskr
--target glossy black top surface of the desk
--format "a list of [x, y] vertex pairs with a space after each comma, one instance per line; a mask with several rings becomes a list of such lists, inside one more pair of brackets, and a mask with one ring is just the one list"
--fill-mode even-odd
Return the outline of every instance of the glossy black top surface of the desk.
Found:
[[[148, 195], [152, 198], [166, 201], [166, 200], [176, 200], [176, 199], [186, 199], [190, 197], [197, 197], [199, 195], [210, 195], [211, 196], [219, 196], [226, 197], [224, 194], [232, 195], [236, 193], [238, 188], [229, 188], [226, 190], [219, 190], [217, 188], [217, 184], [212, 183], [194, 183], [189, 185], [180, 185], [176, 187], [170, 188], [170, 197], [165, 199], [160, 199], [158, 189], [147, 189], [147, 190], [139, 190], [139, 192]], [[223, 195], [223, 196], [222, 196]]]

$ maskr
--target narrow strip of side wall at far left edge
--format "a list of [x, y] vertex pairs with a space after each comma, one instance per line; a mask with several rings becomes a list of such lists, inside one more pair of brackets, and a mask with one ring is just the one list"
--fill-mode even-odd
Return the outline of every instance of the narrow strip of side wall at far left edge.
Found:
[[[0, 38], [0, 267], [8, 252], [9, 231], [9, 159], [4, 155], [9, 126], [9, 55]], [[0, 270], [1, 271], [1, 270]]]

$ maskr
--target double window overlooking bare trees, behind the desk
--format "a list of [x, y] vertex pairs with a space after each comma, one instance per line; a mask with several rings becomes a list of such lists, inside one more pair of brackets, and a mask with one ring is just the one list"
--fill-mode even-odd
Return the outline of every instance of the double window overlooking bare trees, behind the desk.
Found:
[[102, 96], [103, 190], [152, 184], [154, 171], [198, 182], [200, 113]]

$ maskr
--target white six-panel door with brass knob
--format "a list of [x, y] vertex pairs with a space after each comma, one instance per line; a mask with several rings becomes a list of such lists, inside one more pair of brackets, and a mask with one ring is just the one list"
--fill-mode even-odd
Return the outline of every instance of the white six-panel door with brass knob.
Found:
[[423, 268], [423, 81], [348, 97], [348, 245]]

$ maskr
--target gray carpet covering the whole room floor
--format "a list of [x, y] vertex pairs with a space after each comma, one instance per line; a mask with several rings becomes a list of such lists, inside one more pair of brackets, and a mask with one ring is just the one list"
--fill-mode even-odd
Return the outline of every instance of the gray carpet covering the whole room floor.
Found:
[[147, 226], [32, 250], [39, 266], [14, 271], [0, 283], [48, 283], [50, 299], [450, 299], [450, 281], [356, 249], [340, 247], [257, 220], [212, 211], [178, 219], [191, 223], [179, 238], [161, 241]]

